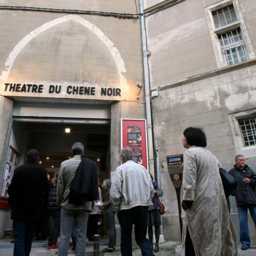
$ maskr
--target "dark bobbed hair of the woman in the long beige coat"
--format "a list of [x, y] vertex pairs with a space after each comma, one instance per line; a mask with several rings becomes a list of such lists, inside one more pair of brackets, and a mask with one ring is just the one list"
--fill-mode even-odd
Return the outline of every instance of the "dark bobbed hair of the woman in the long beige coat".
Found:
[[200, 128], [188, 127], [184, 130], [183, 135], [190, 146], [206, 147], [207, 145], [205, 134]]

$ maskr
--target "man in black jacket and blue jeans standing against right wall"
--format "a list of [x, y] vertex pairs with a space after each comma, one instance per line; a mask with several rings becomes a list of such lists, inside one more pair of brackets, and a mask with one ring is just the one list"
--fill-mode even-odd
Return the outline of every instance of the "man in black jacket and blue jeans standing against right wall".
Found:
[[241, 249], [247, 250], [250, 248], [251, 242], [248, 229], [248, 209], [256, 230], [256, 174], [245, 164], [244, 156], [237, 155], [235, 161], [236, 164], [234, 168], [229, 170], [229, 174], [236, 178], [238, 182], [234, 196], [238, 207], [240, 242], [242, 244]]

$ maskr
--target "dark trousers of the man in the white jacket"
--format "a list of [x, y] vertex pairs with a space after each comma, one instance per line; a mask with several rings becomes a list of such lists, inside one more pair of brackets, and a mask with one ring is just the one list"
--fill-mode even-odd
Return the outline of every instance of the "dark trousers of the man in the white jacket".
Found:
[[128, 210], [121, 210], [117, 218], [121, 227], [121, 255], [131, 256], [132, 228], [134, 225], [135, 241], [139, 245], [142, 256], [152, 256], [154, 253], [150, 242], [146, 239], [147, 232], [147, 206], [137, 206]]

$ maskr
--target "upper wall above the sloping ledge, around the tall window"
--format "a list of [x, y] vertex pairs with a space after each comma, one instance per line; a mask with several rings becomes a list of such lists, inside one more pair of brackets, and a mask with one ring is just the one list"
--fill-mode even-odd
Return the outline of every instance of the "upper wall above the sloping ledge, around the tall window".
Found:
[[[218, 69], [205, 7], [219, 2], [183, 1], [146, 18], [151, 89]], [[238, 2], [255, 48], [256, 4]]]

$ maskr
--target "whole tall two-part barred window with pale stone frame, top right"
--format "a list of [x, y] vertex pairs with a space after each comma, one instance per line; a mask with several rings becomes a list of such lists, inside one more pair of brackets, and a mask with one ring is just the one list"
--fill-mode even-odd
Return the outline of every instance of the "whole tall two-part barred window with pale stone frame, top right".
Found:
[[[218, 68], [256, 58], [240, 0], [218, 0], [205, 8]], [[256, 2], [256, 1], [255, 1]]]

